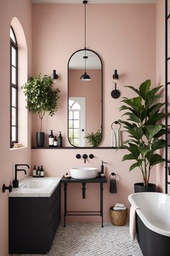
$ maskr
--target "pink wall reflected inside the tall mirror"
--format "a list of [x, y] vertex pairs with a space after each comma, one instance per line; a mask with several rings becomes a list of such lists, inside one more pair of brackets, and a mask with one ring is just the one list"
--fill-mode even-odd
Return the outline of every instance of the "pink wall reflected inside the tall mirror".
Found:
[[87, 70], [91, 81], [80, 80], [84, 70], [69, 70], [69, 97], [86, 97], [86, 134], [97, 132], [102, 126], [102, 76], [101, 70]]

